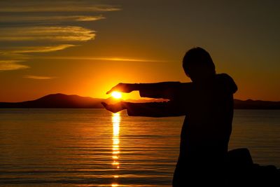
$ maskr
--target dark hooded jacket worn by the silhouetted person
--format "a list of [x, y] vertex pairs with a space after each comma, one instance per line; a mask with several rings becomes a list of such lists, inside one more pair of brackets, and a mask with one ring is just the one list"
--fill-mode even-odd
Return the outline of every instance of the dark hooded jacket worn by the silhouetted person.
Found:
[[237, 85], [228, 74], [216, 74], [203, 83], [139, 84], [141, 97], [169, 101], [125, 105], [129, 116], [186, 116], [181, 130], [179, 163], [205, 164], [223, 160], [228, 152], [236, 91]]

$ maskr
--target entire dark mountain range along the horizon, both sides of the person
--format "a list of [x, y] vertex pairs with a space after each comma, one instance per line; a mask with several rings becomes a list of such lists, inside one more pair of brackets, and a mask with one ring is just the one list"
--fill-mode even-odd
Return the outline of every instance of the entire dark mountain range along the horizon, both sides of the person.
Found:
[[[39, 99], [26, 102], [0, 102], [0, 108], [103, 108], [101, 102], [110, 99], [64, 95], [61, 93], [46, 95]], [[126, 102], [162, 102], [166, 99], [128, 99]], [[268, 102], [248, 99], [235, 99], [235, 109], [280, 109], [280, 102]]]

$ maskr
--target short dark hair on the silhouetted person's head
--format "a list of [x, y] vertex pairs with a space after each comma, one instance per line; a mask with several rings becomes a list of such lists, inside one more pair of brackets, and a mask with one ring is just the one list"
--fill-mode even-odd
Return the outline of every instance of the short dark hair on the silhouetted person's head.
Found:
[[209, 53], [203, 48], [191, 48], [183, 57], [183, 69], [187, 74], [188, 69], [193, 65], [203, 65], [209, 67], [209, 69], [213, 71], [214, 74], [216, 74], [214, 62]]

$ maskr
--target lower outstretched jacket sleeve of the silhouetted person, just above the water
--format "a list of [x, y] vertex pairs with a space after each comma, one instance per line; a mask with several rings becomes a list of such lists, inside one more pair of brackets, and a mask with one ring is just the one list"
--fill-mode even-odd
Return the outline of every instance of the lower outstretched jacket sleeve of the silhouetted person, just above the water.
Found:
[[169, 117], [185, 116], [186, 109], [179, 102], [125, 102], [128, 116]]

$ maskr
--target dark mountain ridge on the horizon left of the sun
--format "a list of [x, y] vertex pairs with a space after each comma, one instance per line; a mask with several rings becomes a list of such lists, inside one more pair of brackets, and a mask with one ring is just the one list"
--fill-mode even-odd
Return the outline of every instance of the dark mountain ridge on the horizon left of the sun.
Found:
[[51, 94], [27, 102], [0, 102], [0, 108], [102, 108], [104, 99]]

